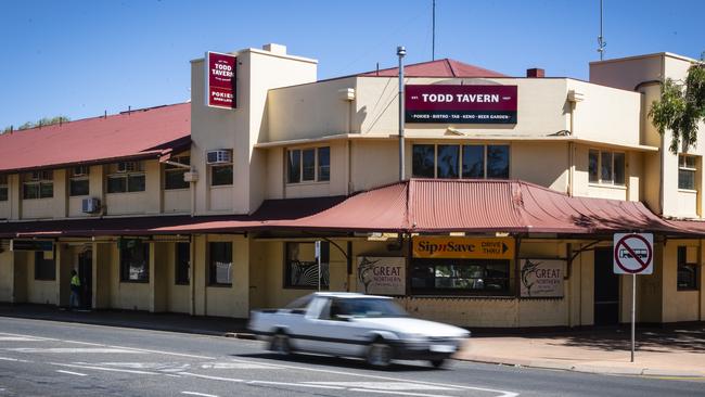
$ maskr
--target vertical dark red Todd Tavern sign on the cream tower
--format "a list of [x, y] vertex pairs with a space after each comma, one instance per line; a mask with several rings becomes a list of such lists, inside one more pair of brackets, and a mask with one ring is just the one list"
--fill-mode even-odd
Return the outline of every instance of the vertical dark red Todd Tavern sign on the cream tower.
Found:
[[238, 57], [206, 52], [206, 106], [235, 108]]

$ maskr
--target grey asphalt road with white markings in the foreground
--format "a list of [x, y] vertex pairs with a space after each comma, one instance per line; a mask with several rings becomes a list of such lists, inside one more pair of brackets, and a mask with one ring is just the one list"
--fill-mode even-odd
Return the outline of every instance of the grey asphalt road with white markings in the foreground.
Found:
[[705, 396], [705, 382], [462, 361], [375, 371], [256, 341], [0, 318], [0, 396]]

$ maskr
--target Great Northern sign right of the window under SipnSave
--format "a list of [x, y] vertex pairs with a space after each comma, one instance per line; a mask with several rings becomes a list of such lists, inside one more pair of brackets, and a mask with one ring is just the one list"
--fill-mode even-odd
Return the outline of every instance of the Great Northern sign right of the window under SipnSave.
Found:
[[565, 260], [522, 259], [522, 297], [562, 297]]

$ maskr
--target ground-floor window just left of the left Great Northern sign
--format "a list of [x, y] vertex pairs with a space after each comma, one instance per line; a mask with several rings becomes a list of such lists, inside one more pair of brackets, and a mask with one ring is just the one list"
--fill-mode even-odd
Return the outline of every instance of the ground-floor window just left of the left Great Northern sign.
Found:
[[[321, 242], [321, 289], [330, 284], [330, 244]], [[315, 243], [286, 243], [284, 287], [318, 289], [319, 272]]]

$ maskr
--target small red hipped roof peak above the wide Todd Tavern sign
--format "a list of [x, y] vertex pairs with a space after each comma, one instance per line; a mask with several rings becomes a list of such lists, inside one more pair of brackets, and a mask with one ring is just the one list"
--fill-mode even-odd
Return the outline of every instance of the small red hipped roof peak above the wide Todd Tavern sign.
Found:
[[[470, 65], [454, 60], [443, 59], [437, 61], [414, 63], [403, 66], [406, 77], [508, 77], [501, 73], [489, 71], [475, 65]], [[361, 73], [364, 77], [393, 77], [399, 76], [398, 67]]]

